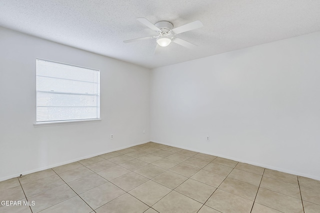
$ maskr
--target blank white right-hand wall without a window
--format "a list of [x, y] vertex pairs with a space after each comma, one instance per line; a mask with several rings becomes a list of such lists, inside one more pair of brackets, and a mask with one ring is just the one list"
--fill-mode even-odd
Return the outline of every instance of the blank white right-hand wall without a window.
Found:
[[320, 180], [319, 56], [316, 32], [153, 69], [150, 139]]

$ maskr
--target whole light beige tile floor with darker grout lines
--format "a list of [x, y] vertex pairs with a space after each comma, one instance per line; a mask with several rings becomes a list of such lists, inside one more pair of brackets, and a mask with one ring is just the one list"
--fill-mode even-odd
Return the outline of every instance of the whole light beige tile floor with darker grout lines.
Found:
[[0, 182], [0, 201], [22, 204], [0, 213], [320, 213], [320, 181], [149, 142]]

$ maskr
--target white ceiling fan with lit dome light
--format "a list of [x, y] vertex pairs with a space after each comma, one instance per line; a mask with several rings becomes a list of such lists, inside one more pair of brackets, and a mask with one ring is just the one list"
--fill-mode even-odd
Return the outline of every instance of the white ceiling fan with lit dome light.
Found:
[[176, 37], [177, 34], [181, 32], [186, 32], [192, 29], [197, 29], [203, 26], [202, 22], [199, 20], [184, 24], [182, 26], [173, 28], [173, 24], [169, 21], [159, 21], [155, 24], [151, 23], [146, 18], [136, 18], [138, 21], [143, 23], [145, 26], [149, 27], [150, 29], [154, 30], [158, 35], [154, 36], [146, 36], [142, 38], [135, 38], [130, 40], [123, 41], [124, 43], [132, 42], [132, 41], [138, 41], [138, 40], [144, 40], [144, 39], [151, 39], [156, 38], [157, 46], [167, 46], [172, 42], [177, 43], [181, 46], [184, 46], [189, 49], [193, 49], [196, 47], [196, 45], [185, 41], [181, 38]]

